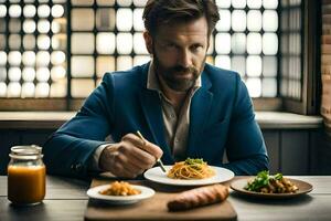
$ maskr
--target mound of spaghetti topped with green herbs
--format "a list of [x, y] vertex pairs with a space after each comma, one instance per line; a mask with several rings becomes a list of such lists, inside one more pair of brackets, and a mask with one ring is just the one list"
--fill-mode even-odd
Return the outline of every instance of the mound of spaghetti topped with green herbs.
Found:
[[167, 176], [172, 179], [205, 179], [214, 175], [215, 171], [203, 159], [188, 158], [175, 162]]

